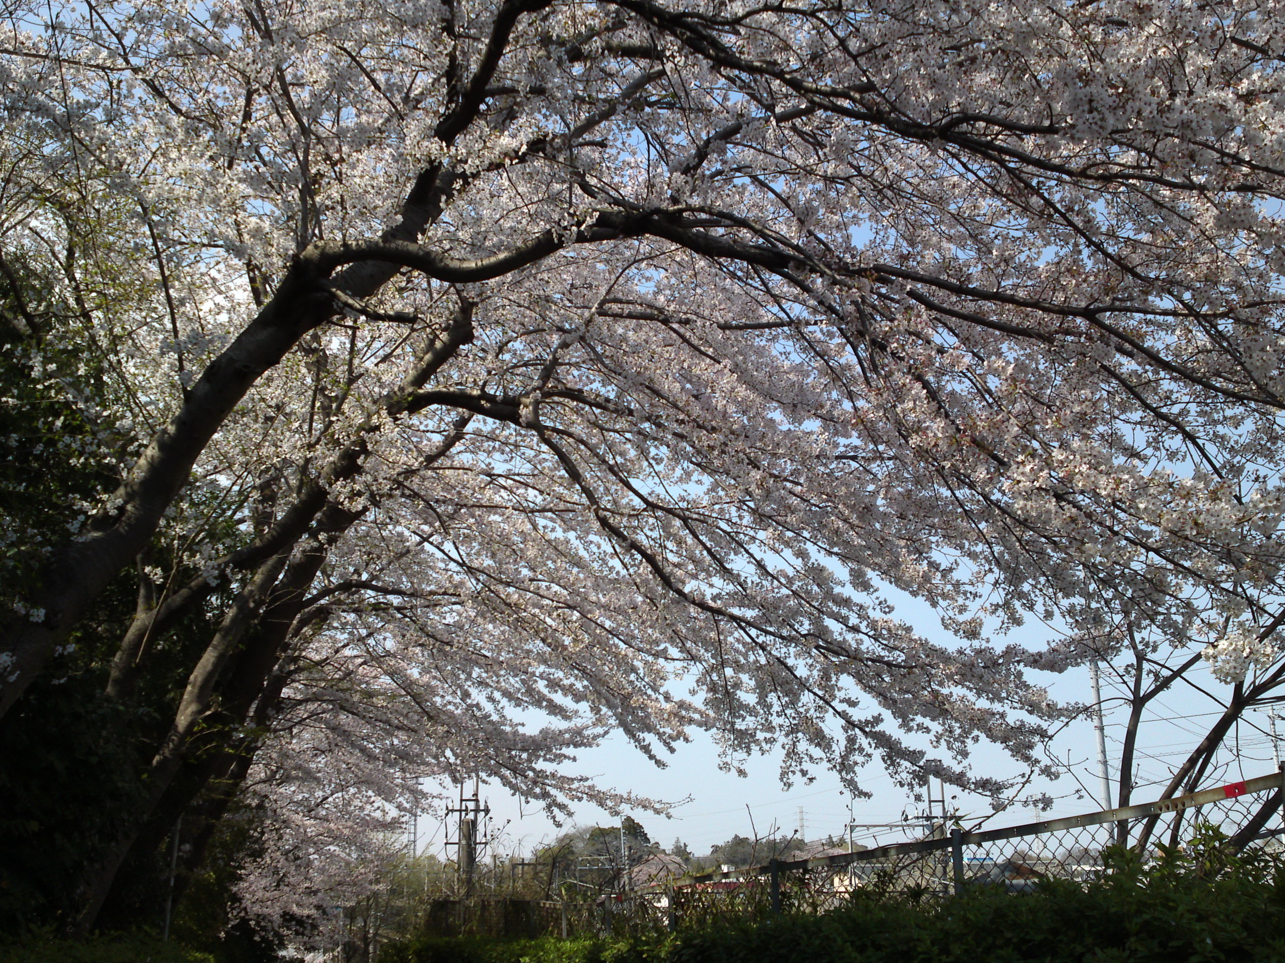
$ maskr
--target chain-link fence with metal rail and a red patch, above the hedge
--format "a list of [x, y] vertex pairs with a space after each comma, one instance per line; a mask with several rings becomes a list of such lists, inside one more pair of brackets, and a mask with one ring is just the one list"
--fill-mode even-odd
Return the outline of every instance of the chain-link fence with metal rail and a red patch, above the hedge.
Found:
[[[1216, 835], [1226, 853], [1277, 850], [1282, 829], [1282, 773], [1270, 773], [1186, 796], [998, 829], [939, 823], [928, 838], [817, 859], [672, 880], [634, 894], [630, 912], [675, 928], [682, 919], [820, 913], [860, 890], [947, 896], [970, 887], [1020, 892], [1045, 880], [1086, 882], [1110, 871], [1112, 847], [1144, 864], [1198, 832]], [[622, 910], [625, 908], [622, 907]]]

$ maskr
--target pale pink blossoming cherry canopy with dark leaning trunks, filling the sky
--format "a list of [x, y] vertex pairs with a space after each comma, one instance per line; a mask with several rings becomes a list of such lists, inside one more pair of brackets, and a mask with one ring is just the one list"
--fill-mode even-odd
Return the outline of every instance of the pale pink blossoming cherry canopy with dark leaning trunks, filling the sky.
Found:
[[[1276, 684], [1275, 5], [49, 10], [6, 19], [5, 243], [128, 211], [146, 297], [85, 315], [139, 452], [32, 550], [0, 713], [121, 579], [105, 698], [207, 627], [84, 924], [320, 732], [610, 802], [560, 768], [608, 729], [1036, 765], [1024, 670], [1130, 630]], [[1032, 616], [1069, 641], [987, 641]]]

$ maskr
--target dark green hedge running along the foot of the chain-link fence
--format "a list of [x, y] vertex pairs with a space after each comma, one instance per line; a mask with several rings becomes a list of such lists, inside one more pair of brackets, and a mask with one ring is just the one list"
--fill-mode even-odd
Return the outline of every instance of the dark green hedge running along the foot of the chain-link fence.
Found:
[[712, 923], [632, 940], [419, 937], [379, 963], [1285, 963], [1285, 872], [1217, 880], [1136, 863], [1087, 887], [978, 889], [915, 903], [861, 898], [822, 917]]

